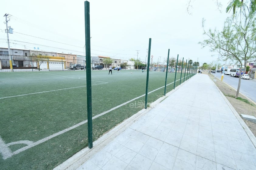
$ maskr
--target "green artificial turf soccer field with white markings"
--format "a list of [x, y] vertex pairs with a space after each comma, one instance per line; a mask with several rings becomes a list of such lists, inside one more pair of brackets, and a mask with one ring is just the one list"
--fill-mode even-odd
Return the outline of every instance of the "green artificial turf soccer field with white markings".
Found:
[[[92, 71], [93, 141], [144, 108], [147, 72], [112, 72]], [[149, 73], [149, 107], [164, 95], [165, 75]], [[168, 73], [166, 93], [174, 79]], [[0, 73], [0, 169], [53, 169], [87, 147], [86, 100], [85, 71]]]

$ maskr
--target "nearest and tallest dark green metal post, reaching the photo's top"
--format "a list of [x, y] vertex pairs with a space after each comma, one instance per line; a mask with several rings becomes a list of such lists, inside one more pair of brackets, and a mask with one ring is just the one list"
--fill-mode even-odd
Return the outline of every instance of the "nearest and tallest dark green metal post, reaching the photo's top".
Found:
[[92, 148], [92, 76], [91, 76], [91, 41], [90, 41], [90, 3], [85, 1], [85, 54], [86, 54], [86, 92], [88, 148]]

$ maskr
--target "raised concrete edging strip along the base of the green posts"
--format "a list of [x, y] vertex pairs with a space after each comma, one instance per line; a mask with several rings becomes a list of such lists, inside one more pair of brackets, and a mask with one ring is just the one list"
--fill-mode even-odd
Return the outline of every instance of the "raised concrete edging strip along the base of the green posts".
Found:
[[91, 149], [89, 149], [88, 147], [82, 149], [81, 151], [74, 154], [72, 157], [68, 158], [65, 162], [55, 167], [53, 170], [74, 170], [79, 168], [84, 162], [86, 162], [94, 154], [99, 152], [102, 148], [104, 148], [107, 144], [109, 144], [114, 138], [116, 138], [119, 134], [124, 132], [128, 127], [130, 127], [133, 123], [135, 123], [140, 117], [145, 115], [147, 112], [153, 109], [157, 104], [161, 103], [165, 98], [169, 97], [172, 93], [178, 90], [184, 83], [185, 82], [183, 82], [181, 85], [177, 86], [175, 89], [168, 92], [165, 96], [162, 96], [158, 98], [156, 101], [152, 102], [150, 104], [150, 107], [148, 107], [147, 109], [140, 110], [136, 114], [132, 115], [130, 118], [127, 118], [125, 121], [123, 121], [116, 127], [112, 128], [109, 132], [106, 132], [98, 140], [93, 142], [94, 146]]

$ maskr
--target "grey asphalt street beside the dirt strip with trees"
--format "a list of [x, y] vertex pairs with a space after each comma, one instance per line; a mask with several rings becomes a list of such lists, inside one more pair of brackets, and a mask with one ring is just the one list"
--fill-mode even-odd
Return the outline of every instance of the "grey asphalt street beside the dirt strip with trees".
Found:
[[[219, 72], [211, 73], [212, 75], [215, 75], [216, 78], [221, 79], [222, 74]], [[237, 77], [231, 77], [230, 75], [224, 75], [223, 82], [227, 83], [231, 87], [235, 88], [237, 90], [239, 78]], [[256, 103], [256, 79], [241, 79], [241, 85], [240, 85], [240, 93], [245, 95], [246, 97], [250, 98], [252, 101]]]

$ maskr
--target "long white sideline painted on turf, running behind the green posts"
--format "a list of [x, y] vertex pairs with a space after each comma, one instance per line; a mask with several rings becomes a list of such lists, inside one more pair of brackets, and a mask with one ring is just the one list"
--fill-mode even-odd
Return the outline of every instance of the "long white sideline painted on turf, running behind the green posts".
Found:
[[[176, 81], [178, 81], [178, 80], [176, 80]], [[171, 84], [173, 84], [173, 83], [174, 83], [174, 82], [169, 83], [168, 85], [171, 85]], [[104, 84], [104, 83], [102, 83], [102, 84]], [[166, 86], [168, 86], [168, 85], [166, 85]], [[161, 89], [161, 88], [164, 88], [164, 86], [162, 86], [162, 87], [160, 87], [160, 88], [157, 88], [157, 89], [155, 89], [155, 90], [153, 90], [153, 91], [151, 91], [151, 92], [148, 92], [148, 94], [150, 94], [150, 93], [152, 93], [152, 92], [155, 92], [155, 91], [157, 91], [157, 90], [159, 90], [159, 89]], [[92, 119], [95, 119], [95, 118], [98, 118], [99, 116], [105, 115], [106, 113], [109, 113], [109, 112], [115, 110], [116, 108], [119, 108], [119, 107], [121, 107], [121, 106], [123, 106], [123, 105], [126, 105], [127, 103], [130, 103], [130, 102], [132, 102], [132, 101], [134, 101], [134, 100], [136, 100], [136, 99], [138, 99], [138, 98], [141, 98], [141, 97], [143, 97], [143, 96], [145, 96], [145, 94], [144, 94], [144, 95], [141, 95], [141, 96], [138, 96], [138, 97], [136, 97], [136, 98], [133, 98], [133, 99], [131, 99], [131, 100], [129, 100], [129, 101], [127, 101], [127, 102], [125, 102], [125, 103], [123, 103], [123, 104], [121, 104], [121, 105], [118, 105], [118, 106], [116, 106], [116, 107], [114, 107], [114, 108], [111, 108], [111, 109], [109, 109], [109, 110], [107, 110], [107, 111], [105, 111], [105, 112], [102, 112], [101, 114], [92, 117]], [[66, 128], [66, 129], [64, 129], [64, 130], [62, 130], [62, 131], [60, 131], [60, 132], [57, 132], [57, 133], [55, 133], [55, 134], [53, 134], [53, 135], [50, 135], [50, 136], [48, 136], [48, 137], [46, 137], [46, 138], [43, 138], [43, 139], [41, 139], [41, 140], [39, 140], [39, 141], [37, 141], [37, 142], [30, 143], [29, 145], [27, 145], [27, 146], [25, 146], [25, 147], [23, 147], [23, 148], [20, 148], [20, 149], [14, 151], [14, 152], [10, 152], [10, 151], [9, 151], [9, 152], [7, 152], [7, 153], [4, 154], [4, 155], [5, 155], [5, 156], [4, 156], [4, 159], [10, 158], [10, 157], [12, 157], [12, 155], [16, 155], [16, 154], [18, 154], [18, 153], [20, 153], [20, 152], [22, 152], [22, 151], [25, 151], [25, 150], [27, 150], [27, 149], [29, 149], [29, 148], [32, 148], [33, 146], [39, 145], [39, 144], [41, 144], [41, 143], [43, 143], [43, 142], [45, 142], [45, 141], [47, 141], [47, 140], [49, 140], [49, 139], [51, 139], [51, 138], [54, 138], [54, 137], [56, 137], [56, 136], [58, 136], [58, 135], [61, 135], [61, 134], [65, 133], [65, 132], [68, 132], [68, 131], [70, 131], [70, 130], [72, 130], [72, 129], [74, 129], [74, 128], [77, 128], [78, 126], [83, 125], [83, 124], [85, 124], [85, 123], [87, 123], [87, 122], [88, 122], [88, 120], [85, 120], [85, 121], [83, 121], [83, 122], [80, 122], [80, 123], [78, 123], [78, 124], [76, 124], [76, 125], [74, 125], [74, 126], [71, 126], [71, 127], [69, 127], [69, 128]], [[1, 137], [0, 137], [0, 139], [1, 139]], [[19, 141], [18, 141], [18, 142], [19, 142]], [[22, 142], [22, 141], [20, 141], [20, 142]], [[12, 142], [12, 143], [13, 143], [13, 142]], [[4, 144], [3, 142], [0, 142], [0, 144], [1, 144], [1, 148], [4, 148], [4, 145], [5, 145], [5, 146], [6, 146], [6, 145], [7, 145], [7, 146], [10, 145], [10, 143], [9, 143], [9, 144]], [[6, 148], [6, 147], [5, 147], [5, 148]], [[0, 150], [0, 151], [1, 151], [1, 150]], [[1, 152], [2, 152], [2, 151], [1, 151]]]

